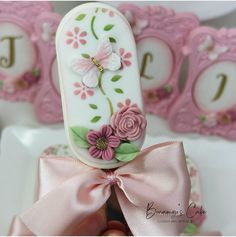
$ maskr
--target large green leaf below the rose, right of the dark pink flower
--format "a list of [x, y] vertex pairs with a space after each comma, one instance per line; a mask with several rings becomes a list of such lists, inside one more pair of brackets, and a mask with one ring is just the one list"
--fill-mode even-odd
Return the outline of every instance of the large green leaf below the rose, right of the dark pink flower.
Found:
[[131, 143], [122, 143], [115, 149], [115, 152], [115, 158], [117, 160], [128, 162], [133, 160], [139, 154], [139, 149]]

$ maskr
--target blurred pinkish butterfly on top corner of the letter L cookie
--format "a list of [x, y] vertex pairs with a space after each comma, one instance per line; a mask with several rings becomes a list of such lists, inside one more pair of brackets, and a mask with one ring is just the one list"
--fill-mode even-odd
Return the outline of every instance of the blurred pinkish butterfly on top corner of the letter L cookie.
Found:
[[148, 20], [134, 17], [132, 12], [129, 10], [127, 10], [124, 15], [130, 23], [134, 35], [141, 34], [143, 29], [148, 26]]

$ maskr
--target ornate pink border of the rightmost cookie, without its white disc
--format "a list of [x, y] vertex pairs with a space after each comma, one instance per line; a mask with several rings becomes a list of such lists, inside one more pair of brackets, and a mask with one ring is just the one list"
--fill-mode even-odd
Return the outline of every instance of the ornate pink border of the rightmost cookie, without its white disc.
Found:
[[[204, 56], [204, 53], [199, 52], [199, 45], [207, 37], [211, 37], [214, 42], [219, 45], [224, 45], [228, 50], [220, 53], [218, 58], [211, 60]], [[216, 124], [214, 126], [205, 126], [201, 121], [202, 114], [208, 114], [207, 111], [202, 111], [194, 101], [193, 88], [196, 79], [200, 73], [214, 65], [214, 63], [233, 61], [236, 55], [236, 30], [235, 29], [221, 29], [215, 30], [209, 27], [199, 27], [189, 37], [186, 53], [189, 53], [189, 73], [187, 84], [182, 95], [171, 108], [169, 114], [169, 125], [172, 130], [177, 132], [198, 132], [206, 135], [219, 135], [227, 139], [236, 140], [236, 122], [232, 121], [227, 125]], [[224, 111], [222, 111], [223, 113]]]

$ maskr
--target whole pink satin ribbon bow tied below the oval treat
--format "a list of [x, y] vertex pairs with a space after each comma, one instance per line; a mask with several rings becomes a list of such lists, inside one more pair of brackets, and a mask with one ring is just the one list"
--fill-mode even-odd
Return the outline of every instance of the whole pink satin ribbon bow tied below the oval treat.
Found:
[[143, 150], [114, 171], [92, 168], [72, 158], [41, 157], [39, 200], [14, 219], [10, 234], [65, 235], [107, 201], [111, 186], [134, 235], [182, 232], [186, 223], [178, 220], [183, 216], [156, 213], [146, 218], [148, 203], [159, 211], [183, 213], [188, 206], [190, 179], [183, 146], [168, 142]]

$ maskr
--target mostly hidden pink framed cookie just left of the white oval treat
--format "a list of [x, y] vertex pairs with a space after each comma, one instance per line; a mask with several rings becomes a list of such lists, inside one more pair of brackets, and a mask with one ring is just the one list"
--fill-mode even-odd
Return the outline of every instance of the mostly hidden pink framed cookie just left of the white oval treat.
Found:
[[35, 22], [35, 35], [41, 58], [41, 84], [34, 99], [37, 118], [44, 123], [63, 121], [55, 36], [61, 16], [42, 13]]

